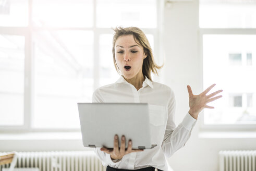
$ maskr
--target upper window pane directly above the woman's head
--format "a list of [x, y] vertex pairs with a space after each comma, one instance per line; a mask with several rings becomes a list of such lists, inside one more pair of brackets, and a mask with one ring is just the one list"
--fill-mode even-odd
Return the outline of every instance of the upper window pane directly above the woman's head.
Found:
[[156, 28], [156, 1], [99, 0], [96, 6], [96, 16], [97, 27]]

